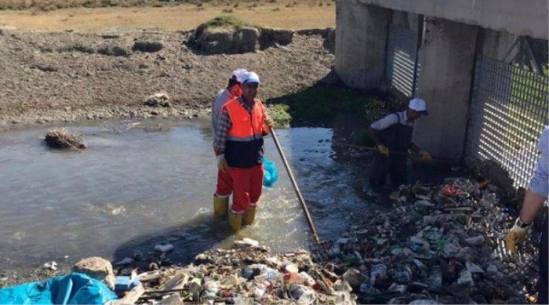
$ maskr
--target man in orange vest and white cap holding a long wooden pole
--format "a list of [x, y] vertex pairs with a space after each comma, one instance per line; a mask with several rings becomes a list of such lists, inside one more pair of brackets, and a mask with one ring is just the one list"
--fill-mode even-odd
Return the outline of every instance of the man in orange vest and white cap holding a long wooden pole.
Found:
[[242, 77], [242, 96], [225, 103], [215, 134], [215, 154], [220, 171], [233, 181], [233, 206], [229, 225], [234, 232], [255, 219], [263, 182], [263, 137], [270, 132], [272, 120], [263, 103], [256, 99], [259, 76]]

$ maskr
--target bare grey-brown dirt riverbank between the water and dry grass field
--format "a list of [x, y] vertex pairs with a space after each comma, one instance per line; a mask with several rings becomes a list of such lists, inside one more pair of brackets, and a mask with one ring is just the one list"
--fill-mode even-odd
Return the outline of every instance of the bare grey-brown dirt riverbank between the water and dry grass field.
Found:
[[[311, 33], [315, 33], [314, 31]], [[263, 51], [205, 56], [187, 47], [191, 32], [31, 32], [0, 29], [0, 127], [98, 119], [205, 117], [233, 69], [256, 71], [266, 100], [313, 86], [334, 55], [322, 31]], [[154, 42], [156, 49], [139, 49]], [[142, 44], [142, 45], [143, 45]], [[143, 103], [166, 93], [169, 108]]]

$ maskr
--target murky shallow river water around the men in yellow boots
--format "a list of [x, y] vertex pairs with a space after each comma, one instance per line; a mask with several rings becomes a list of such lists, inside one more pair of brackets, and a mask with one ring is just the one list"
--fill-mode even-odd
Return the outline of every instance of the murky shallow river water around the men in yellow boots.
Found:
[[[228, 246], [228, 225], [211, 215], [209, 123], [158, 122], [73, 127], [89, 147], [80, 152], [47, 149], [40, 141], [45, 129], [0, 134], [2, 269], [113, 259], [162, 241], [176, 245], [174, 261]], [[351, 169], [330, 158], [331, 130], [280, 130], [279, 138], [318, 234], [336, 239], [366, 205], [353, 191], [359, 187]], [[240, 237], [274, 251], [306, 247], [307, 223], [270, 138], [266, 156], [281, 178], [264, 189], [256, 223]]]

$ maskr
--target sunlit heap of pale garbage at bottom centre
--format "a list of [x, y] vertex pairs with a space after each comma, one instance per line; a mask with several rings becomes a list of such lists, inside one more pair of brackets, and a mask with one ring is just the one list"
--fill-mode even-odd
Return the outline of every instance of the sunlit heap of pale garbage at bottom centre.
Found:
[[349, 283], [309, 252], [271, 254], [251, 239], [199, 254], [185, 267], [157, 268], [128, 277], [144, 287], [137, 304], [355, 304]]

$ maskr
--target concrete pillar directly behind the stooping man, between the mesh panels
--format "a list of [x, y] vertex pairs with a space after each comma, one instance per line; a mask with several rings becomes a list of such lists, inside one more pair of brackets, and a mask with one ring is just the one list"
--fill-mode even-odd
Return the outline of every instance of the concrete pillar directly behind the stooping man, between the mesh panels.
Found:
[[425, 19], [419, 48], [419, 87], [428, 117], [417, 121], [414, 142], [438, 158], [459, 160], [465, 141], [478, 27]]

